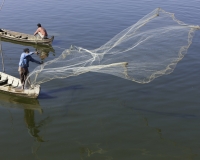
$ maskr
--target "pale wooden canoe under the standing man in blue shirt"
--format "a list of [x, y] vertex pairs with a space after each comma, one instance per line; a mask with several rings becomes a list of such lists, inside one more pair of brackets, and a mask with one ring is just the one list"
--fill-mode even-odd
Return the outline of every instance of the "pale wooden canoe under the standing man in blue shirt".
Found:
[[40, 93], [40, 85], [36, 85], [33, 88], [21, 89], [19, 78], [0, 72], [0, 91], [27, 98], [37, 98]]

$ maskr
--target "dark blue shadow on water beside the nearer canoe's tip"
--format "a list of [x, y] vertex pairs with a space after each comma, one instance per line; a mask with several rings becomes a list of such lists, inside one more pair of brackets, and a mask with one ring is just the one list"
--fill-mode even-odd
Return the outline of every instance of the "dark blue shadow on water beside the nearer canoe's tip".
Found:
[[66, 91], [76, 91], [80, 89], [84, 89], [82, 85], [73, 85], [73, 86], [67, 86], [67, 87], [62, 87], [62, 88], [56, 88], [56, 89], [48, 90], [48, 92], [41, 91], [38, 96], [38, 99], [57, 98], [57, 96], [52, 96], [51, 94], [66, 92]]

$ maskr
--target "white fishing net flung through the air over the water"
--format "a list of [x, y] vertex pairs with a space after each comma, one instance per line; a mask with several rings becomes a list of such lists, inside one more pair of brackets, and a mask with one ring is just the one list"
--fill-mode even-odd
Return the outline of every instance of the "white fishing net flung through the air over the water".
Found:
[[100, 48], [66, 49], [29, 75], [32, 85], [86, 72], [100, 72], [138, 83], [171, 73], [187, 53], [199, 26], [185, 24], [160, 8], [123, 30]]

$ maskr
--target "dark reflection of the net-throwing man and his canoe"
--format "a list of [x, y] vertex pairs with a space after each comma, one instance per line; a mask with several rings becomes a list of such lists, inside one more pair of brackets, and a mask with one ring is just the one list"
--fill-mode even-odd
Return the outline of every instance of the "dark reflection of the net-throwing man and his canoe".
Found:
[[[0, 106], [24, 110], [24, 122], [28, 129], [28, 133], [31, 135], [31, 137], [34, 138], [35, 142], [37, 143], [35, 144], [35, 149], [33, 149], [33, 153], [36, 154], [36, 152], [41, 146], [41, 143], [47, 142], [47, 140], [44, 139], [44, 136], [40, 135], [42, 127], [44, 127], [50, 122], [50, 117], [47, 116], [36, 123], [35, 111], [38, 111], [40, 115], [43, 113], [43, 110], [40, 107], [38, 100], [18, 97], [15, 95], [0, 92]], [[9, 113], [11, 114], [10, 110]], [[13, 124], [14, 118], [12, 114], [11, 117], [11, 121]]]

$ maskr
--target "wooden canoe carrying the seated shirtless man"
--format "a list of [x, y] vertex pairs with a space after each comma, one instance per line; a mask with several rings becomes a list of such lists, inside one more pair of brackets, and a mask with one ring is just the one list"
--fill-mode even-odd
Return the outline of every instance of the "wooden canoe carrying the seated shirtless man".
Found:
[[54, 36], [52, 36], [51, 38], [42, 39], [38, 36], [34, 36], [31, 34], [15, 32], [15, 31], [10, 31], [6, 29], [0, 29], [0, 36], [2, 38], [10, 39], [13, 41], [18, 41], [18, 42], [46, 44], [46, 45], [51, 45], [54, 39]]

